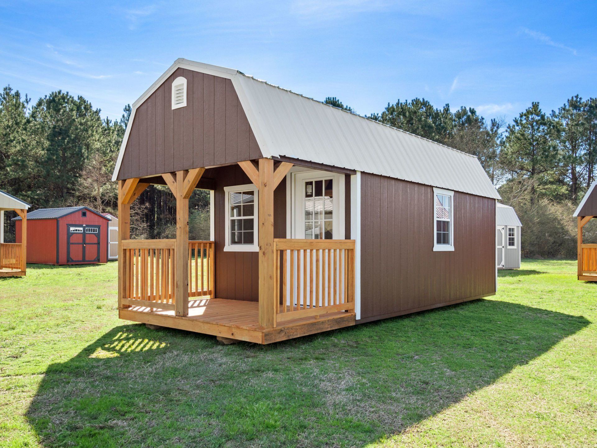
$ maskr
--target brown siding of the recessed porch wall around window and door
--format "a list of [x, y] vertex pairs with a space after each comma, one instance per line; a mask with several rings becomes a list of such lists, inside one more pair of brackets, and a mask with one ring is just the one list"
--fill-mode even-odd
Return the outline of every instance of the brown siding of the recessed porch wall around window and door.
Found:
[[[250, 184], [238, 165], [208, 169], [214, 179], [214, 241], [216, 242], [216, 297], [259, 301], [259, 253], [224, 252], [226, 245], [226, 193], [224, 187]], [[274, 192], [274, 237], [286, 237], [286, 181]]]

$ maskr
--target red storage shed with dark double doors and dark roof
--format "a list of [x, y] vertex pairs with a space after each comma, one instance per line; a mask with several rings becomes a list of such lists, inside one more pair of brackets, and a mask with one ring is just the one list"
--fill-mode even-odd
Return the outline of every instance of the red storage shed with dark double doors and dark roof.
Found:
[[[16, 240], [21, 240], [21, 218]], [[39, 209], [27, 214], [27, 263], [106, 263], [110, 218], [87, 207]]]

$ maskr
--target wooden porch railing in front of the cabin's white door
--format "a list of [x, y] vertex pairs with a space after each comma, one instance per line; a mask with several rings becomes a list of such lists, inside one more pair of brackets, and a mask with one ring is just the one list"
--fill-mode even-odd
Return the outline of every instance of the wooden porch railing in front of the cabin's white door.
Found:
[[355, 241], [275, 239], [276, 322], [355, 309]]

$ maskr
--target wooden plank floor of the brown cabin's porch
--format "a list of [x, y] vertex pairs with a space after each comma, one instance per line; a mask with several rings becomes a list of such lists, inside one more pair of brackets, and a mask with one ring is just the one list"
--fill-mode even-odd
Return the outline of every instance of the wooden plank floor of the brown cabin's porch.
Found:
[[195, 331], [247, 342], [268, 344], [307, 334], [321, 333], [355, 324], [355, 313], [336, 312], [320, 319], [301, 318], [286, 321], [276, 328], [259, 328], [259, 304], [223, 298], [189, 299], [189, 315], [176, 316], [173, 310], [150, 310], [131, 306], [119, 309], [119, 317], [127, 321]]

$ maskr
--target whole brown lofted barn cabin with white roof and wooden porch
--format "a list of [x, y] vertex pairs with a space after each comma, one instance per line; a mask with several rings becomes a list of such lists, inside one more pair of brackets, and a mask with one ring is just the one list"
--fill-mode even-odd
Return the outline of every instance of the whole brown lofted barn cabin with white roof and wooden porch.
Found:
[[[496, 292], [476, 157], [236, 70], [176, 60], [134, 103], [113, 180], [122, 319], [266, 344]], [[150, 184], [176, 196], [176, 239], [130, 239]], [[209, 241], [189, 241], [195, 188]]]

